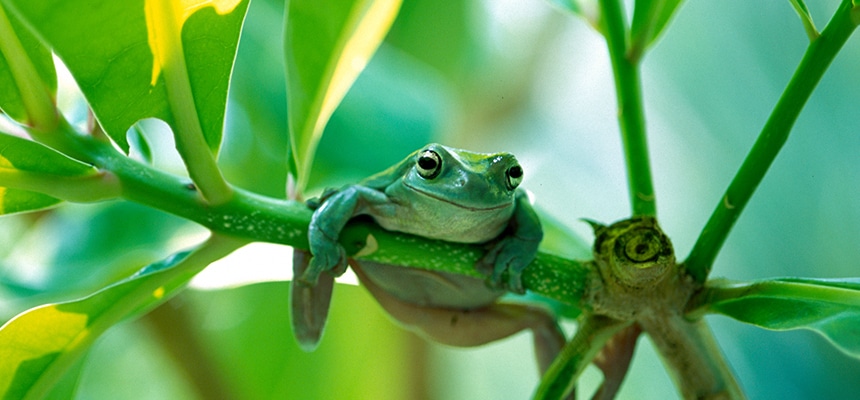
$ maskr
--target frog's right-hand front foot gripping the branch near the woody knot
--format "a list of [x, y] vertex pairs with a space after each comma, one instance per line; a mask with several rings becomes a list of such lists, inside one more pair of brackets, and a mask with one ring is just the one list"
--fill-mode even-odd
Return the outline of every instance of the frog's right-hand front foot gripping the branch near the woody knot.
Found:
[[490, 287], [523, 294], [523, 270], [534, 260], [537, 244], [517, 237], [502, 238], [492, 242], [475, 266], [488, 277]]

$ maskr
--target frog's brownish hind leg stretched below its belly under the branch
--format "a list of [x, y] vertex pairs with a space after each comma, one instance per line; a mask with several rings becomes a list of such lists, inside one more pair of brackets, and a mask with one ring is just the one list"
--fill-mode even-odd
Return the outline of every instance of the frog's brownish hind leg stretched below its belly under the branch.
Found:
[[491, 303], [469, 310], [416, 305], [392, 296], [369, 279], [360, 267], [352, 266], [362, 285], [391, 317], [435, 342], [473, 347], [531, 329], [541, 374], [564, 346], [564, 333], [542, 308], [511, 303]]

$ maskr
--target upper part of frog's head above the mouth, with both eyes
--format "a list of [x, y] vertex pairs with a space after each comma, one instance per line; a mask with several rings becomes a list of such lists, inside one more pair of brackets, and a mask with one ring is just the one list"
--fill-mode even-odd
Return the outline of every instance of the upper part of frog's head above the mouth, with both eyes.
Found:
[[523, 169], [510, 153], [483, 154], [429, 144], [410, 156], [403, 176], [408, 188], [463, 208], [513, 205]]

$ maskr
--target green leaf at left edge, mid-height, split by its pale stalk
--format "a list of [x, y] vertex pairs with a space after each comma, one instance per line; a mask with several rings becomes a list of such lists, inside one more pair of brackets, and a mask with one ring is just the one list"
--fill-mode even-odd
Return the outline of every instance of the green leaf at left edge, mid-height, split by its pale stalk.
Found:
[[[0, 133], [0, 182], [84, 177], [96, 169], [41, 144]], [[60, 200], [29, 190], [0, 187], [0, 215], [47, 208]]]

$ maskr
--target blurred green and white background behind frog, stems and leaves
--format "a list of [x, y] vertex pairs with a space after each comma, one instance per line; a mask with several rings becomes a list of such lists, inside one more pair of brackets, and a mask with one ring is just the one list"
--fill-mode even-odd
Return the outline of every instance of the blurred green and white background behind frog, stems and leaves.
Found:
[[[837, 4], [810, 2], [819, 28]], [[277, 197], [284, 193], [288, 140], [282, 21], [282, 2], [252, 2], [221, 153], [231, 182]], [[787, 1], [690, 1], [646, 56], [643, 92], [659, 216], [680, 258], [807, 42]], [[860, 39], [854, 37], [738, 221], [715, 277], [860, 276], [857, 65]], [[81, 119], [74, 95], [61, 93], [60, 104]], [[156, 163], [178, 172], [169, 135], [158, 124], [143, 125]], [[589, 242], [580, 218], [629, 216], [605, 43], [548, 2], [406, 1], [329, 123], [311, 186], [360, 179], [430, 141], [515, 153], [537, 205]], [[90, 293], [200, 233], [127, 203], [4, 217], [0, 320]], [[287, 270], [289, 252], [282, 250], [281, 258], [243, 256], [233, 270]], [[77, 398], [522, 399], [537, 383], [528, 333], [478, 349], [428, 344], [390, 322], [363, 289], [341, 285], [319, 349], [305, 354], [289, 329], [288, 282], [197, 286], [206, 289], [186, 291], [109, 331], [78, 370]], [[860, 393], [860, 362], [813, 333], [769, 332], [723, 317], [709, 322], [750, 398]], [[566, 328], [570, 333], [574, 325]], [[647, 339], [639, 342], [631, 368], [620, 398], [677, 396]], [[195, 388], [189, 371], [208, 379], [208, 387]], [[581, 396], [589, 397], [599, 379], [590, 368]]]

